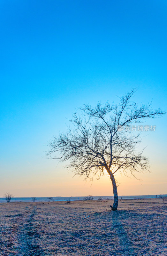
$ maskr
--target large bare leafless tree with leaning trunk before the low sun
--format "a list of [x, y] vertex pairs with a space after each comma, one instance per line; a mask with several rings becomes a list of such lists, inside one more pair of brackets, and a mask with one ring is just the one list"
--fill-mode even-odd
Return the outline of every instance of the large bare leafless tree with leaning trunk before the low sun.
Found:
[[137, 123], [165, 114], [160, 108], [153, 110], [152, 103], [138, 107], [131, 101], [133, 93], [134, 89], [120, 97], [118, 105], [97, 103], [95, 107], [84, 105], [76, 110], [70, 120], [73, 128], [49, 141], [47, 152], [49, 158], [68, 161], [66, 167], [85, 175], [85, 179], [95, 175], [100, 179], [107, 172], [113, 187], [113, 211], [118, 207], [115, 173], [127, 175], [130, 171], [135, 176], [135, 172], [149, 171], [147, 157], [136, 147], [141, 141], [140, 133], [129, 131], [130, 125], [138, 127]]

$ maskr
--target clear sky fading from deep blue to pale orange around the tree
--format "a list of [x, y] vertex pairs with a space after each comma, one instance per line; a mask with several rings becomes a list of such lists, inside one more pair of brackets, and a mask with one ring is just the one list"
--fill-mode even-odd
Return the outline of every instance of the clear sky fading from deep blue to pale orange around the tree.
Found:
[[[0, 3], [0, 197], [113, 195], [107, 176], [85, 183], [45, 159], [76, 107], [138, 87], [134, 100], [167, 110], [167, 2]], [[167, 117], [142, 147], [152, 173], [121, 177], [118, 195], [166, 194]]]

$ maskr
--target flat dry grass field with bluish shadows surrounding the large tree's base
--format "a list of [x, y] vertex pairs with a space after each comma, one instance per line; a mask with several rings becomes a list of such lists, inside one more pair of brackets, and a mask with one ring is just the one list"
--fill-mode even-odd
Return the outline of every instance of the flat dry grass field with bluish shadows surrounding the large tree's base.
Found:
[[117, 212], [110, 204], [1, 203], [0, 255], [167, 255], [167, 204], [160, 198], [120, 200]]

